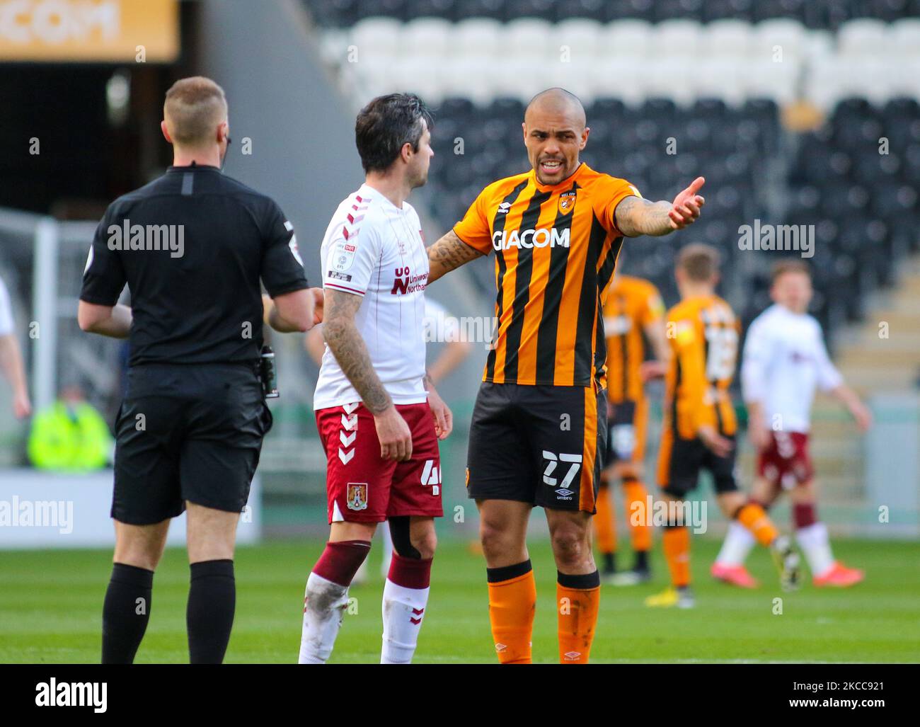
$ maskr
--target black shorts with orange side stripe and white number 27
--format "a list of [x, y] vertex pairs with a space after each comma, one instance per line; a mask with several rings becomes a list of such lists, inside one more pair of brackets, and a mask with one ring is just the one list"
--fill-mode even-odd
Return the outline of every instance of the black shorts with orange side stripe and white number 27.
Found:
[[469, 431], [469, 497], [593, 513], [607, 445], [605, 396], [592, 387], [484, 382]]

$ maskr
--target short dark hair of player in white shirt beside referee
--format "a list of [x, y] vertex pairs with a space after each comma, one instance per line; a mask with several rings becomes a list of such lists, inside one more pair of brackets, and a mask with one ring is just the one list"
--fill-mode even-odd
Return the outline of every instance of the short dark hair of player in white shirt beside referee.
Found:
[[424, 131], [434, 119], [425, 102], [415, 94], [394, 93], [374, 98], [358, 114], [354, 124], [355, 144], [365, 172], [385, 171], [399, 158], [404, 144], [419, 151]]

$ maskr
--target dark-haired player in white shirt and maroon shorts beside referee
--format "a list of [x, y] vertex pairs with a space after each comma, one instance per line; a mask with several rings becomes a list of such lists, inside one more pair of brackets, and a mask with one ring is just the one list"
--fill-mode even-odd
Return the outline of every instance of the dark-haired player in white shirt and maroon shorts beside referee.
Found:
[[438, 439], [453, 415], [425, 373], [428, 255], [406, 201], [428, 179], [431, 114], [420, 98], [374, 98], [355, 139], [365, 182], [339, 204], [320, 252], [328, 348], [314, 409], [327, 454], [329, 539], [306, 582], [300, 664], [322, 664], [379, 523], [395, 553], [384, 586], [382, 664], [408, 664], [428, 603], [443, 514]]

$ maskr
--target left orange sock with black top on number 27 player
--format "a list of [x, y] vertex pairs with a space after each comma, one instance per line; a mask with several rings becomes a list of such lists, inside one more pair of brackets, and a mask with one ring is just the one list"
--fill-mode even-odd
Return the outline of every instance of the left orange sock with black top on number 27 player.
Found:
[[536, 582], [530, 560], [487, 568], [489, 621], [500, 664], [530, 664]]

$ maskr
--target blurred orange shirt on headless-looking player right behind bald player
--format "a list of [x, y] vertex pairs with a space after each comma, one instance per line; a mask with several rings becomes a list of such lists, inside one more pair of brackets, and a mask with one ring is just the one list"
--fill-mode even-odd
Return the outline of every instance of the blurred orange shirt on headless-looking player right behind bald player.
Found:
[[607, 337], [607, 398], [614, 404], [645, 396], [639, 366], [645, 361], [645, 329], [664, 317], [658, 288], [647, 280], [617, 274], [604, 303]]

